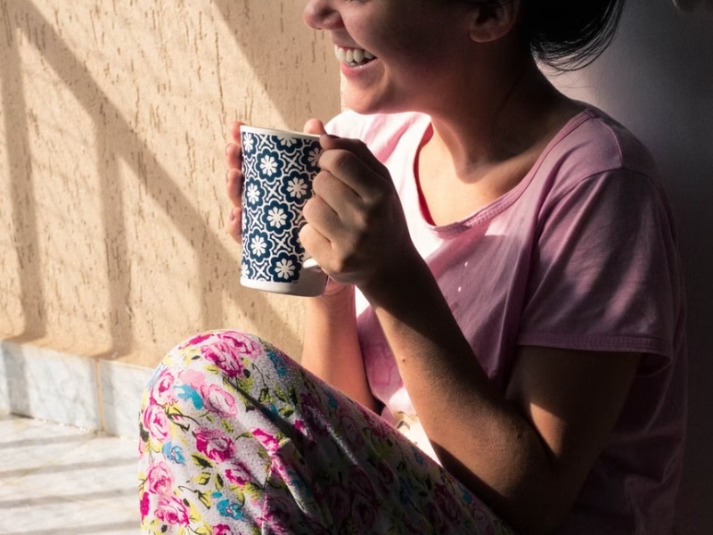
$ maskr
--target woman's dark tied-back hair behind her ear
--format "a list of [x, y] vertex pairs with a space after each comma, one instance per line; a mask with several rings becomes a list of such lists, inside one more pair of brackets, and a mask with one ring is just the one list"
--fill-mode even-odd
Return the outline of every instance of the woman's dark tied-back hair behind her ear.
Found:
[[555, 70], [594, 62], [619, 27], [626, 0], [520, 0], [530, 51]]

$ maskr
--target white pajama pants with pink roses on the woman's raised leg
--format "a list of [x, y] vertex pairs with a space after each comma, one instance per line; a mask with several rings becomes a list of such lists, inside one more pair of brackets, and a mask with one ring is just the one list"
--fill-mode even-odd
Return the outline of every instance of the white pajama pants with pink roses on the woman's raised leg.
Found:
[[143, 533], [512, 533], [380, 416], [248, 334], [172, 350], [140, 431]]

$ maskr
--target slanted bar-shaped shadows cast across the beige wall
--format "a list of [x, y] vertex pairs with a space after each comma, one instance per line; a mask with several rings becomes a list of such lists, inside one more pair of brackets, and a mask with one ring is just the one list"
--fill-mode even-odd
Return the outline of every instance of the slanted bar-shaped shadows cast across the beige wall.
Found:
[[[279, 79], [275, 77], [276, 70], [280, 69], [279, 62], [265, 62], [266, 51], [261, 46], [265, 43], [253, 44], [244, 42], [242, 33], [238, 30], [250, 24], [251, 17], [256, 23], [259, 17], [278, 16], [275, 6], [270, 7], [263, 0], [246, 0], [240, 3], [228, 0], [216, 0], [214, 3], [225, 19], [225, 23], [234, 28], [234, 37], [237, 45], [241, 46], [242, 53], [250, 62], [258, 79], [264, 80], [264, 86], [269, 92], [268, 81]], [[271, 12], [272, 11], [272, 12]], [[283, 10], [284, 11], [284, 10]], [[290, 11], [290, 10], [288, 10]], [[292, 16], [293, 13], [290, 13]], [[195, 221], [201, 221], [201, 214], [193, 208], [193, 204], [181, 190], [181, 186], [171, 177], [167, 169], [153, 157], [152, 148], [148, 146], [135, 130], [123, 119], [123, 114], [112, 103], [111, 99], [103, 94], [102, 88], [92, 75], [86, 70], [85, 65], [78, 60], [60, 35], [53, 29], [52, 21], [47, 21], [45, 15], [37, 6], [26, 0], [5, 0], [0, 3], [0, 15], [4, 22], [4, 35], [7, 37], [5, 50], [0, 54], [0, 72], [2, 72], [2, 110], [4, 112], [5, 131], [8, 134], [7, 157], [11, 172], [11, 204], [14, 235], [12, 236], [18, 256], [22, 259], [20, 268], [20, 293], [22, 309], [26, 318], [25, 331], [13, 339], [14, 342], [29, 342], [45, 335], [47, 331], [46, 299], [42, 277], [40, 258], [37, 251], [39, 229], [37, 214], [32, 202], [35, 189], [41, 185], [37, 182], [37, 175], [33, 176], [29, 146], [29, 128], [26, 115], [27, 103], [25, 88], [23, 87], [22, 65], [20, 51], [13, 42], [16, 32], [24, 34], [27, 41], [37, 47], [42, 54], [43, 61], [48, 64], [56, 75], [61, 78], [64, 85], [72, 92], [78, 103], [86, 110], [87, 115], [94, 123], [94, 136], [97, 138], [98, 161], [106, 162], [98, 167], [100, 184], [100, 202], [102, 203], [102, 226], [106, 232], [106, 255], [109, 281], [109, 306], [111, 310], [111, 350], [104, 356], [116, 356], [130, 352], [134, 340], [134, 325], [131, 314], [125, 313], [127, 294], [130, 291], [130, 262], [131, 253], [127, 246], [126, 214], [122, 208], [122, 187], [120, 165], [126, 164], [135, 177], [143, 181], [146, 192], [152, 197], [157, 206], [164, 207], [168, 218], [177, 233], [182, 235], [186, 243], [191, 243], [197, 256], [204, 259], [197, 267], [198, 280], [196, 284], [203, 296], [209, 296], [214, 290], [217, 274], [234, 272], [234, 259], [232, 252], [227, 251], [215, 235]], [[282, 16], [285, 13], [282, 12]], [[0, 28], [2, 30], [3, 28]], [[37, 37], [37, 29], [41, 29], [41, 39]], [[285, 26], [282, 39], [294, 44], [295, 50], [309, 50], [312, 47], [315, 53], [316, 43], [309, 42], [308, 32], [299, 35], [290, 34], [290, 25]], [[244, 32], [243, 32], [244, 33]], [[2, 34], [0, 34], [2, 35]], [[42, 43], [51, 43], [49, 46], [40, 46]], [[264, 40], [267, 42], [268, 40]], [[97, 98], [101, 95], [102, 98]], [[291, 103], [281, 103], [275, 99], [275, 105], [284, 106], [277, 111], [284, 118], [295, 115]], [[308, 104], [307, 112], [310, 111]], [[246, 103], [246, 119], [250, 117], [250, 104]], [[300, 111], [300, 115], [302, 112]], [[225, 111], [223, 116], [225, 117]], [[20, 127], [18, 128], [18, 125]], [[12, 129], [12, 130], [11, 130]], [[168, 207], [171, 207], [168, 210]], [[181, 214], [176, 217], [176, 214]], [[227, 288], [228, 300], [235, 303], [241, 301], [242, 289], [238, 284]], [[214, 328], [221, 325], [224, 320], [224, 305], [221, 296], [215, 299], [201, 299], [201, 325], [196, 325], [196, 330]], [[270, 303], [259, 293], [250, 293], [250, 302], [258, 308], [265, 310], [263, 319], [270, 323], [283, 325], [283, 319], [277, 310], [271, 309]], [[286, 345], [296, 345], [296, 336], [291, 329], [282, 330]], [[176, 341], [177, 342], [177, 341]]]

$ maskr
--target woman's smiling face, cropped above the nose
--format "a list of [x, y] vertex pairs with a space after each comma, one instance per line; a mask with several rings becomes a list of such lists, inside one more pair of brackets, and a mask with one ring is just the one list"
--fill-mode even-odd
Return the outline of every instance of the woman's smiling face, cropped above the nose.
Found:
[[457, 1], [310, 0], [305, 21], [332, 35], [349, 108], [428, 111], [466, 68], [468, 12]]

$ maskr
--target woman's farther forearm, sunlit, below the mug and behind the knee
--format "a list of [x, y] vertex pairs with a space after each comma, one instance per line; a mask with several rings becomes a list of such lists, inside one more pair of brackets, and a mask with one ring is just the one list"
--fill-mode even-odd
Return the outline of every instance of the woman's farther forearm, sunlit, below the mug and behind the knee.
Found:
[[307, 300], [302, 366], [375, 410], [356, 335], [354, 288]]

